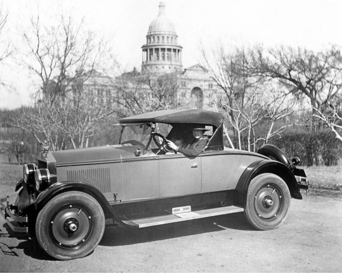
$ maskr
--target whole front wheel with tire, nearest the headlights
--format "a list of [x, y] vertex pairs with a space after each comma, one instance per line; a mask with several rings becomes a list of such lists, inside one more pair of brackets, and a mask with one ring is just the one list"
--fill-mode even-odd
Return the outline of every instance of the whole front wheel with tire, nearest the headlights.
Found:
[[57, 260], [82, 258], [100, 243], [105, 216], [100, 204], [83, 192], [65, 192], [39, 212], [35, 234], [40, 247]]

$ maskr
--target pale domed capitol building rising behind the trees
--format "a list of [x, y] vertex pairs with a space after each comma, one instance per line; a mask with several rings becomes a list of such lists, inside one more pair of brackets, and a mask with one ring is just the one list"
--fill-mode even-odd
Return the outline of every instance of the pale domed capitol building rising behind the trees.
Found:
[[[119, 83], [129, 79], [126, 89], [137, 89], [137, 82], [143, 82], [147, 77], [159, 75], [172, 75], [177, 79], [178, 97], [186, 102], [184, 107], [208, 109], [208, 94], [216, 93], [217, 84], [210, 78], [207, 70], [200, 64], [190, 67], [182, 66], [182, 46], [178, 43], [178, 35], [172, 21], [166, 15], [166, 5], [159, 4], [159, 14], [152, 20], [146, 35], [145, 44], [142, 45], [141, 71], [134, 68], [114, 79]], [[113, 79], [97, 72], [93, 73], [85, 82], [87, 89], [93, 90], [98, 97], [106, 97], [111, 92]], [[121, 88], [121, 89], [125, 89]], [[139, 86], [140, 92], [149, 92], [148, 84]]]

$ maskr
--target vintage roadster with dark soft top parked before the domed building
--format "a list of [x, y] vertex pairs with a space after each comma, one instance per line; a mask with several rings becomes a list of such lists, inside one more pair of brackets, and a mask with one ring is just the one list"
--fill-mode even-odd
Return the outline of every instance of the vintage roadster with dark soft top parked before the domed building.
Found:
[[[145, 228], [243, 212], [255, 229], [278, 228], [290, 198], [308, 190], [304, 170], [277, 147], [258, 153], [225, 148], [223, 116], [204, 110], [162, 110], [122, 118], [117, 144], [51, 152], [23, 166], [16, 200], [1, 199], [14, 232], [28, 234], [51, 257], [90, 254], [105, 226]], [[205, 126], [198, 156], [175, 153], [167, 139]], [[36, 242], [35, 241], [35, 242]]]

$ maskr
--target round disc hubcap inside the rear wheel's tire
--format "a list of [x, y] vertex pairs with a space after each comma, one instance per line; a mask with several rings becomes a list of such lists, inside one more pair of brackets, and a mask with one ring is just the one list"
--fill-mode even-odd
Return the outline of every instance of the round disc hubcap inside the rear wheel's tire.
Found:
[[254, 210], [263, 220], [273, 220], [278, 217], [283, 206], [282, 192], [276, 185], [264, 185], [254, 196]]

